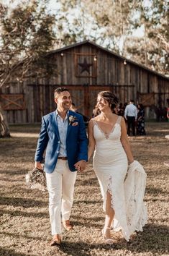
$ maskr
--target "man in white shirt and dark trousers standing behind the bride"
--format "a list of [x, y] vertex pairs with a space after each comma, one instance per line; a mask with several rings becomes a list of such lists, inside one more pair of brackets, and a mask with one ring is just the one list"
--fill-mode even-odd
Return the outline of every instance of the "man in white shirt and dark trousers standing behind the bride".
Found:
[[137, 121], [137, 107], [134, 101], [130, 100], [129, 105], [124, 110], [124, 117], [127, 120], [127, 135], [130, 135], [130, 127], [132, 126], [132, 135], [135, 136], [135, 122]]

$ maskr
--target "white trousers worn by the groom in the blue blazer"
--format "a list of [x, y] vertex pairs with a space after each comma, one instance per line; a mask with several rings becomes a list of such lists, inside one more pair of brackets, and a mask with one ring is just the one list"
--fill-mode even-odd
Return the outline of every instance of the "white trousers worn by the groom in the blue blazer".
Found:
[[70, 218], [76, 174], [69, 170], [68, 161], [61, 159], [52, 174], [46, 174], [52, 235], [62, 233], [61, 214], [64, 221]]

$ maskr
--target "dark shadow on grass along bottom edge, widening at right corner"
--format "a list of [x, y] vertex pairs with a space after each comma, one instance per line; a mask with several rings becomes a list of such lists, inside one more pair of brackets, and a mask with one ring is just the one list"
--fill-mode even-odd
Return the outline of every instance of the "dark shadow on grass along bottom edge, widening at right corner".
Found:
[[[152, 252], [152, 255], [168, 255], [168, 228], [167, 226], [157, 226], [155, 224], [149, 224], [145, 226], [143, 232], [138, 232], [129, 242], [124, 239], [119, 239], [114, 244], [88, 244], [84, 242], [63, 242], [59, 247], [61, 252], [67, 253], [72, 256], [88, 256], [91, 252], [98, 252], [98, 255], [103, 252], [115, 254], [116, 250], [123, 250], [125, 252], [142, 253]], [[113, 255], [113, 254], [112, 254]]]

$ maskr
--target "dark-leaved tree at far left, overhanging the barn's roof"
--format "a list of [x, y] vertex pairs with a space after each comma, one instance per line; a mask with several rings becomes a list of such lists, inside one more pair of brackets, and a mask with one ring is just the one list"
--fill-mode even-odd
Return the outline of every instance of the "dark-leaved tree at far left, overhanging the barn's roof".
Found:
[[[0, 4], [0, 87], [11, 80], [52, 72], [45, 54], [55, 41], [55, 16], [47, 12], [46, 5], [45, 0], [22, 1], [15, 7]], [[1, 136], [9, 136], [1, 106], [0, 116]]]

